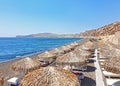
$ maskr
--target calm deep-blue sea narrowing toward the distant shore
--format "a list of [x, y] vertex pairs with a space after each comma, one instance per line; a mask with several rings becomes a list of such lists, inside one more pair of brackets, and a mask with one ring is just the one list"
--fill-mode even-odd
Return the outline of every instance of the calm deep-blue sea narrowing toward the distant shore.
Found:
[[0, 62], [43, 52], [81, 38], [0, 38]]

